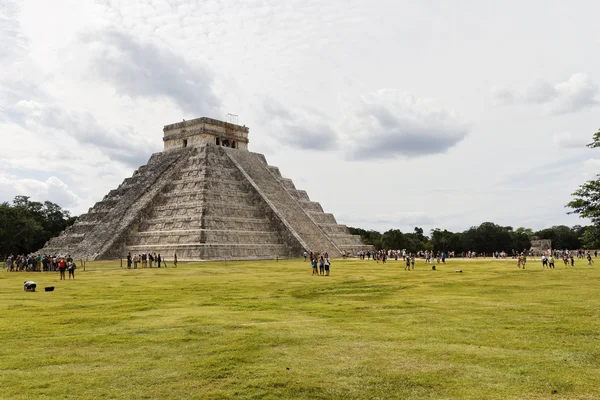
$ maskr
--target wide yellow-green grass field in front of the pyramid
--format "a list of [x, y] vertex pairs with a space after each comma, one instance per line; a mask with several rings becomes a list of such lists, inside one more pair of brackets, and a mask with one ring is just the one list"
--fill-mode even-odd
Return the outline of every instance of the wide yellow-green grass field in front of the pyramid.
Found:
[[1, 272], [0, 398], [600, 398], [598, 267], [308, 264]]

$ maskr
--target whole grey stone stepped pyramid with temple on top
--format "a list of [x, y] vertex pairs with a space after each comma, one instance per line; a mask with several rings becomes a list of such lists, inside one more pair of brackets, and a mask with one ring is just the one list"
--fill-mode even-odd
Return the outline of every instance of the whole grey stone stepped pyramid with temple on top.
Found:
[[180, 260], [331, 257], [369, 249], [262, 154], [248, 128], [211, 118], [164, 127], [164, 150], [111, 190], [40, 253]]

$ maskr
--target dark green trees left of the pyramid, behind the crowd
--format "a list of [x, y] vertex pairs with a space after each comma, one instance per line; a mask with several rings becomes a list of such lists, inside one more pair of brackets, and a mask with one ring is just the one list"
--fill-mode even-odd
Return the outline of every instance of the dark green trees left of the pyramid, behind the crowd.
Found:
[[69, 211], [51, 201], [28, 196], [0, 203], [0, 254], [29, 254], [75, 222]]

